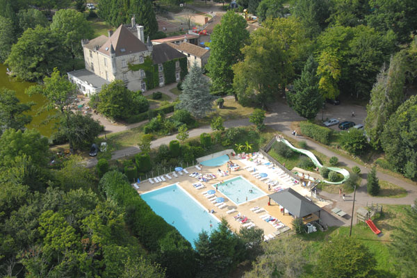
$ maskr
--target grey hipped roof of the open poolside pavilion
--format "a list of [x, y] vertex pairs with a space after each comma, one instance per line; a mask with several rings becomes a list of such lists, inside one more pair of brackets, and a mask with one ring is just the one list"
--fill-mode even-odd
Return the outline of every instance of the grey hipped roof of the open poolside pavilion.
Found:
[[302, 218], [311, 213], [320, 211], [321, 209], [320, 206], [317, 206], [292, 188], [281, 190], [277, 193], [268, 195], [268, 197], [277, 204], [284, 206], [287, 211], [297, 216], [297, 218]]

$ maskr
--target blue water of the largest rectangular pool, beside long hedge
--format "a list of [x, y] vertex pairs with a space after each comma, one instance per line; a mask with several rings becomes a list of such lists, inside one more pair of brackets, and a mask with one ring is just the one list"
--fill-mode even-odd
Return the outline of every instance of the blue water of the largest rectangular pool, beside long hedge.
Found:
[[177, 183], [142, 194], [140, 197], [156, 214], [177, 228], [193, 247], [194, 240], [197, 240], [203, 229], [210, 233], [218, 227], [219, 221]]

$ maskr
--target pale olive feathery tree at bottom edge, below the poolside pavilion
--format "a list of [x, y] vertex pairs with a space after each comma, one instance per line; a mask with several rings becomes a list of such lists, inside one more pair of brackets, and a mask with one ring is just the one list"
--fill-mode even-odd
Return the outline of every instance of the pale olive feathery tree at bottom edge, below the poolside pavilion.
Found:
[[272, 240], [263, 245], [263, 254], [256, 258], [252, 270], [245, 272], [243, 277], [300, 277], [306, 265], [305, 250], [304, 241], [295, 236]]

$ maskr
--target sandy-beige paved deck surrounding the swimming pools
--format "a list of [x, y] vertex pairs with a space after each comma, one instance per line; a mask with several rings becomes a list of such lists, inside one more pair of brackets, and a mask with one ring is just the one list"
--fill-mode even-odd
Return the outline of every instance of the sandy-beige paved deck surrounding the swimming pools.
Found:
[[[199, 172], [202, 174], [215, 174], [216, 179], [211, 179], [207, 182], [204, 183], [205, 188], [202, 189], [196, 189], [193, 187], [193, 183], [197, 183], [199, 182], [197, 179], [195, 179], [194, 177], [190, 177], [189, 174], [183, 174], [183, 175], [179, 175], [179, 177], [173, 177], [172, 173], [170, 174], [170, 177], [172, 177], [172, 179], [168, 180], [166, 177], [165, 179], [167, 179], [167, 181], [163, 181], [161, 183], [150, 183], [149, 181], [142, 181], [142, 183], [139, 184], [140, 189], [138, 189], [138, 193], [147, 193], [148, 191], [151, 190], [156, 190], [158, 188], [163, 188], [165, 186], [169, 186], [173, 183], [178, 183], [179, 186], [181, 186], [184, 190], [186, 190], [190, 195], [192, 195], [195, 199], [197, 199], [197, 201], [202, 204], [205, 208], [207, 208], [208, 210], [214, 209], [215, 213], [214, 215], [221, 219], [221, 218], [225, 218], [227, 220], [227, 222], [229, 222], [229, 225], [231, 227], [231, 229], [233, 229], [234, 231], [239, 231], [240, 227], [242, 227], [242, 225], [240, 224], [240, 222], [236, 221], [234, 219], [234, 215], [237, 215], [237, 213], [241, 213], [241, 215], [246, 215], [248, 218], [248, 222], [254, 222], [254, 224], [256, 224], [256, 227], [259, 227], [261, 229], [264, 230], [264, 234], [268, 235], [268, 234], [273, 234], [275, 231], [277, 231], [277, 229], [275, 229], [275, 227], [272, 227], [272, 224], [269, 224], [268, 222], [265, 222], [264, 220], [262, 220], [261, 218], [259, 218], [261, 215], [265, 215], [265, 213], [270, 214], [271, 216], [273, 216], [274, 218], [277, 218], [278, 220], [280, 220], [282, 223], [284, 223], [286, 226], [292, 228], [292, 224], [291, 221], [293, 220], [293, 218], [289, 215], [283, 215], [281, 213], [281, 211], [279, 210], [279, 206], [277, 205], [271, 205], [268, 206], [268, 196], [263, 196], [263, 197], [259, 197], [258, 199], [254, 199], [252, 201], [249, 202], [245, 202], [243, 204], [240, 204], [238, 206], [236, 206], [234, 203], [232, 203], [227, 196], [223, 195], [220, 192], [215, 193], [215, 196], [217, 197], [224, 197], [224, 203], [227, 204], [227, 206], [225, 206], [224, 208], [220, 209], [217, 206], [215, 206], [214, 204], [212, 204], [210, 201], [208, 201], [208, 199], [206, 197], [204, 197], [204, 195], [202, 195], [202, 193], [205, 193], [207, 190], [211, 190], [213, 189], [213, 184], [218, 183], [222, 180], [226, 180], [226, 179], [231, 179], [234, 177], [238, 177], [238, 176], [242, 176], [245, 179], [247, 179], [248, 181], [250, 181], [251, 183], [253, 183], [257, 188], [259, 188], [260, 190], [263, 190], [263, 192], [265, 192], [265, 194], [269, 195], [274, 193], [275, 191], [268, 191], [268, 186], [263, 183], [262, 181], [259, 181], [259, 179], [256, 179], [255, 177], [252, 176], [252, 174], [250, 174], [250, 172], [248, 172], [247, 170], [244, 170], [243, 167], [246, 167], [248, 164], [248, 161], [244, 161], [243, 159], [237, 158], [236, 156], [231, 157], [231, 161], [233, 163], [236, 163], [237, 165], [240, 166], [240, 170], [238, 171], [232, 171], [231, 174], [227, 175], [227, 177], [219, 177], [218, 175], [218, 169], [220, 168], [221, 170], [226, 171], [227, 169], [227, 165], [224, 164], [222, 166], [217, 166], [217, 167], [209, 167], [209, 166], [203, 166], [202, 170], [197, 170], [195, 168], [195, 166], [192, 167], [188, 167], [186, 168], [186, 170], [188, 170], [188, 172], [192, 173], [192, 172]], [[266, 170], [265, 170], [266, 171]], [[271, 170], [272, 171], [272, 170]], [[294, 190], [296, 190], [298, 193], [300, 193], [301, 195], [310, 197], [311, 193], [309, 193], [309, 190], [307, 190], [306, 188], [303, 188], [300, 185], [288, 185], [288, 187], [291, 186], [291, 188], [293, 188]], [[325, 202], [316, 202], [316, 204], [320, 207], [323, 207], [325, 205], [327, 205], [327, 203]], [[254, 208], [255, 206], [259, 206], [259, 208], [264, 208], [266, 211], [262, 211], [260, 213], [254, 213], [253, 211], [250, 210], [250, 208]], [[236, 211], [234, 213], [231, 214], [227, 214], [226, 212], [231, 210], [232, 208], [235, 208]]]

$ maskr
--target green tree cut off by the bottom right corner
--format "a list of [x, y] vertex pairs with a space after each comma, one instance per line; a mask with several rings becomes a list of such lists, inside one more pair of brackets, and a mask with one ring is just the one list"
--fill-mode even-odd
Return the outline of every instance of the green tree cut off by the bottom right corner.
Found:
[[394, 267], [401, 273], [401, 277], [414, 277], [417, 272], [417, 200], [414, 200], [414, 208], [404, 208], [405, 217], [402, 217], [401, 225], [397, 226], [395, 233], [391, 234], [393, 243], [391, 251], [395, 258]]

